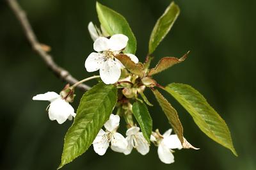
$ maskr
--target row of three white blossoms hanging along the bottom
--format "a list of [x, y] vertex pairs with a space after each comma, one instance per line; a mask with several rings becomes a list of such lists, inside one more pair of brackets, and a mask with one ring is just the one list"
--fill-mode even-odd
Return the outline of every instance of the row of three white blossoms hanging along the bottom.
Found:
[[[99, 155], [104, 155], [106, 150], [110, 148], [113, 151], [124, 153], [129, 155], [132, 148], [135, 148], [141, 155], [146, 155], [149, 151], [149, 143], [140, 132], [139, 127], [130, 127], [126, 131], [126, 136], [116, 132], [119, 127], [120, 117], [118, 115], [111, 114], [109, 120], [105, 123], [104, 127], [106, 131], [100, 129], [97, 137], [93, 141], [93, 149]], [[163, 135], [153, 132], [150, 141], [158, 146], [158, 156], [165, 164], [171, 164], [174, 162], [173, 150], [182, 149], [182, 145], [177, 135], [171, 135], [172, 129], [167, 130]]]

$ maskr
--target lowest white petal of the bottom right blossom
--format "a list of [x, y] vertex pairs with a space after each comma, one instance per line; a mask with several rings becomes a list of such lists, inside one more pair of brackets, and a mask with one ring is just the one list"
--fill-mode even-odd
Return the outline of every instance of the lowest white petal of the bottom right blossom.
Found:
[[172, 152], [164, 146], [164, 144], [159, 144], [157, 149], [158, 157], [164, 164], [172, 164], [174, 162], [174, 157]]

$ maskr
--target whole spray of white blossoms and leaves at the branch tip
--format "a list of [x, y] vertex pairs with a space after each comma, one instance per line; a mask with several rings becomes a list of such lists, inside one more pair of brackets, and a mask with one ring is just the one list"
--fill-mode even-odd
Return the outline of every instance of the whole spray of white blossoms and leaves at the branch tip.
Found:
[[[124, 155], [129, 155], [132, 148], [141, 155], [146, 155], [150, 150], [150, 144], [154, 144], [157, 146], [159, 159], [165, 164], [174, 162], [175, 149], [198, 150], [185, 139], [178, 112], [158, 89], [172, 95], [191, 114], [196, 120], [196, 125], [208, 137], [237, 155], [225, 121], [196, 89], [175, 82], [162, 86], [154, 79], [154, 75], [182, 63], [188, 56], [189, 52], [181, 58], [164, 57], [156, 66], [150, 67], [153, 52], [170, 31], [180, 13], [179, 6], [170, 3], [157, 20], [150, 35], [144, 62], [135, 56], [137, 42], [127, 20], [99, 2], [96, 3], [96, 8], [101, 25], [97, 27], [92, 22], [88, 24], [95, 52], [91, 52], [84, 59], [83, 69], [87, 72], [99, 70], [99, 75], [81, 81], [70, 81], [66, 77], [72, 86], [67, 84], [60, 95], [47, 92], [33, 97], [33, 100], [51, 102], [47, 112], [52, 121], [56, 120], [61, 124], [74, 117], [74, 123], [65, 135], [58, 169], [84, 153], [91, 145], [99, 155], [104, 155], [109, 147]], [[168, 19], [170, 22], [167, 23]], [[88, 91], [81, 97], [75, 113], [70, 105], [76, 96], [74, 89], [77, 86], [85, 87], [82, 83], [92, 79], [98, 79], [99, 82], [92, 88], [86, 88]], [[153, 120], [147, 105], [153, 105], [144, 94], [146, 88], [153, 93], [175, 134], [171, 134], [172, 129], [164, 134], [158, 129], [152, 132]], [[126, 123], [125, 135], [118, 132], [120, 118]]]

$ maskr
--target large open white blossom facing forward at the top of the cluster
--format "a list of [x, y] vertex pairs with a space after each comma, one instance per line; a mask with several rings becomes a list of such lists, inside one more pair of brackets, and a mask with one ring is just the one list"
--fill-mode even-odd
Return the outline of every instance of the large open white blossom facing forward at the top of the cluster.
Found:
[[[93, 43], [92, 52], [86, 59], [84, 66], [87, 72], [100, 70], [100, 78], [105, 84], [113, 84], [120, 78], [121, 69], [124, 65], [115, 58], [116, 54], [125, 49], [128, 37], [122, 34], [113, 35], [111, 38], [99, 37]], [[134, 54], [125, 54], [134, 63], [138, 63], [138, 58]]]

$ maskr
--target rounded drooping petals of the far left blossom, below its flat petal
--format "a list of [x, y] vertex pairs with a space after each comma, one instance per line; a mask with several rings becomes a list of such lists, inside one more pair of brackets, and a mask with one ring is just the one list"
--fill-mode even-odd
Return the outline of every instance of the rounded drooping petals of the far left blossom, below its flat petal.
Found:
[[58, 98], [51, 102], [48, 110], [50, 120], [64, 123], [70, 114], [74, 113], [74, 108], [65, 100]]

